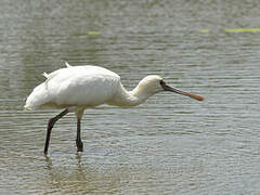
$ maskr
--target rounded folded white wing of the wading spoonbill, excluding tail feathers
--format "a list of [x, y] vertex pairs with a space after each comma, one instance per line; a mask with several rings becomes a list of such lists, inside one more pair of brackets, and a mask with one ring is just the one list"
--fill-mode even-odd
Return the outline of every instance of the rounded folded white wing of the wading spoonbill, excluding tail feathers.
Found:
[[48, 92], [58, 105], [96, 106], [110, 99], [120, 83], [120, 77], [95, 66], [65, 68], [52, 78]]

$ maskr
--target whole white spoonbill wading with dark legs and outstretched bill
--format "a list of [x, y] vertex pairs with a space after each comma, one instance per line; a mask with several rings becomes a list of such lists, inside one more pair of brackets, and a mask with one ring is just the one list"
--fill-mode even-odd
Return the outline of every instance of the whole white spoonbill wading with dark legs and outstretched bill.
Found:
[[76, 145], [77, 152], [82, 152], [80, 120], [86, 108], [101, 104], [121, 107], [136, 106], [151, 95], [161, 91], [176, 92], [198, 101], [204, 100], [200, 95], [167, 86], [164, 79], [156, 75], [146, 76], [132, 91], [127, 91], [120, 82], [120, 77], [108, 69], [89, 65], [70, 66], [67, 63], [66, 65], [66, 68], [57, 69], [51, 74], [43, 73], [46, 81], [32, 90], [24, 106], [26, 109], [42, 107], [64, 109], [49, 120], [44, 146], [46, 155], [54, 123], [67, 113], [75, 113], [77, 116]]

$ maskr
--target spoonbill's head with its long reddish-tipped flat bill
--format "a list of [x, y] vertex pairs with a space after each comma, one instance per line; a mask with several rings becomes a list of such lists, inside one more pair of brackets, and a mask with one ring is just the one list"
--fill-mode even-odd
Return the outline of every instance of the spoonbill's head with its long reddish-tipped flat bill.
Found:
[[179, 94], [182, 94], [182, 95], [190, 96], [190, 98], [195, 99], [197, 101], [203, 101], [204, 100], [204, 98], [200, 96], [200, 95], [197, 95], [197, 94], [194, 94], [194, 93], [188, 93], [188, 92], [185, 92], [183, 90], [179, 90], [177, 88], [168, 86], [165, 82], [165, 80], [157, 75], [150, 75], [150, 76], [144, 77], [139, 82], [138, 88], [139, 88], [140, 91], [145, 91], [146, 93], [148, 93], [151, 95], [155, 94], [155, 93], [158, 93], [158, 92], [161, 92], [161, 91], [170, 91], [170, 92], [174, 92], [174, 93], [179, 93]]

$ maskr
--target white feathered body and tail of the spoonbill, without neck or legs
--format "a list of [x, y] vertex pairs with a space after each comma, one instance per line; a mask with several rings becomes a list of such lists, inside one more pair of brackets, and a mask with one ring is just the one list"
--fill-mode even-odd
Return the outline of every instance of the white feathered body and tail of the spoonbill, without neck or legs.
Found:
[[117, 74], [96, 66], [62, 68], [44, 77], [27, 98], [25, 108], [93, 107], [112, 99], [120, 84]]

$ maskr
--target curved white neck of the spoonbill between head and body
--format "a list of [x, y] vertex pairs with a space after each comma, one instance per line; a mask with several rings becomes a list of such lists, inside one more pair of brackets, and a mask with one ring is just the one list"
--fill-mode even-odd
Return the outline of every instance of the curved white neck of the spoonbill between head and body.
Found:
[[118, 90], [113, 101], [107, 102], [107, 104], [121, 107], [132, 107], [143, 103], [151, 95], [153, 94], [147, 93], [147, 91], [140, 86], [136, 86], [132, 91], [127, 91], [123, 86], [120, 86], [120, 90]]

